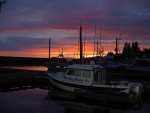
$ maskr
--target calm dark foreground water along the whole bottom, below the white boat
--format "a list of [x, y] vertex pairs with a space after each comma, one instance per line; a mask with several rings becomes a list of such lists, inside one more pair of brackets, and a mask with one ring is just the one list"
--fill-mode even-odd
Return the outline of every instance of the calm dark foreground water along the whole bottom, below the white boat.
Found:
[[86, 102], [68, 101], [47, 98], [50, 91], [46, 89], [26, 89], [11, 92], [0, 92], [0, 113], [150, 113], [150, 103], [112, 107], [101, 104], [92, 105]]

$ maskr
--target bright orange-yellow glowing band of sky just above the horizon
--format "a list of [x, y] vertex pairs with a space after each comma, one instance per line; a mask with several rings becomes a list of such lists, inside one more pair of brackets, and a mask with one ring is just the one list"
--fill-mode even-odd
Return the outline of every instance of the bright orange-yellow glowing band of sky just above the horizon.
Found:
[[[78, 44], [78, 43], [77, 43]], [[48, 44], [47, 44], [48, 46]], [[51, 45], [53, 46], [53, 45]], [[104, 52], [102, 56], [107, 55], [108, 52], [113, 52], [115, 54], [115, 43], [114, 44], [102, 44], [104, 47]], [[105, 47], [110, 47], [111, 50]], [[149, 45], [147, 45], [149, 47]], [[119, 52], [122, 52], [123, 45], [119, 45]], [[63, 50], [62, 50], [63, 49]], [[61, 46], [60, 48], [51, 48], [51, 57], [58, 57], [58, 55], [63, 52], [63, 55], [65, 58], [79, 58], [79, 47], [78, 45], [76, 46], [70, 46], [70, 47], [65, 47]], [[96, 48], [95, 48], [96, 49]], [[140, 48], [141, 50], [143, 48]], [[83, 47], [83, 56], [85, 57], [93, 57], [96, 56], [96, 51], [94, 51], [94, 46], [93, 44], [85, 45], [85, 50]], [[17, 51], [0, 51], [0, 56], [13, 56], [13, 57], [37, 57], [37, 58], [48, 58], [49, 57], [49, 48], [29, 48], [26, 50], [17, 50]]]

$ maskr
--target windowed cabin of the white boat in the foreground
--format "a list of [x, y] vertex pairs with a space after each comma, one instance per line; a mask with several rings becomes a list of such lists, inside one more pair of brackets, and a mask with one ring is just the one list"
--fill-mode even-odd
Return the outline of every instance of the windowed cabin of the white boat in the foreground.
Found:
[[107, 72], [101, 66], [70, 65], [66, 67], [65, 82], [83, 85], [106, 84]]

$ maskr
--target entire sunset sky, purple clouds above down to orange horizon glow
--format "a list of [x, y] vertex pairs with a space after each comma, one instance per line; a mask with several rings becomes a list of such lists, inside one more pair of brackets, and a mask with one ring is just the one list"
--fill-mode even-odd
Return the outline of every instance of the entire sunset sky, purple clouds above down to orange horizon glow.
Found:
[[137, 41], [141, 50], [150, 48], [150, 0], [6, 2], [0, 13], [0, 56], [47, 58], [51, 38], [51, 57], [62, 48], [65, 57], [76, 57], [80, 25], [87, 57], [93, 55], [94, 39], [100, 42], [100, 36], [104, 54], [114, 52], [117, 37], [120, 52], [125, 42]]

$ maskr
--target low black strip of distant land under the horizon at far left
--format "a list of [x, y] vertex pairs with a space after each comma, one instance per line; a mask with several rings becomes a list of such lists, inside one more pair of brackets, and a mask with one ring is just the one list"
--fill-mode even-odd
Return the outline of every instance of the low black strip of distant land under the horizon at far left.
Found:
[[48, 58], [3, 57], [0, 56], [0, 66], [44, 66]]

